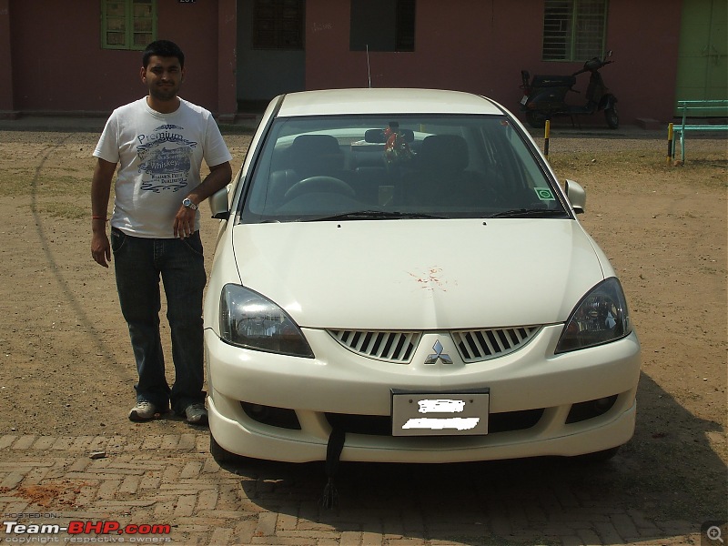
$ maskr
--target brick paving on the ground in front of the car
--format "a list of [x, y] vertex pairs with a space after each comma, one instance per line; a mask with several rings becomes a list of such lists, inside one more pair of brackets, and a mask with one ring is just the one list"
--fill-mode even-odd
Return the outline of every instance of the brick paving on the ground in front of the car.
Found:
[[699, 525], [655, 521], [649, 511], [615, 508], [613, 491], [599, 498], [594, 488], [574, 487], [588, 472], [577, 472], [570, 483], [556, 476], [559, 467], [540, 462], [434, 468], [342, 463], [339, 505], [324, 510], [318, 503], [325, 482], [321, 464], [243, 461], [221, 468], [209, 455], [208, 443], [207, 430], [136, 440], [0, 436], [3, 521], [171, 526], [168, 534], [92, 530], [41, 536], [7, 532], [4, 523], [0, 540], [291, 546], [701, 543]]

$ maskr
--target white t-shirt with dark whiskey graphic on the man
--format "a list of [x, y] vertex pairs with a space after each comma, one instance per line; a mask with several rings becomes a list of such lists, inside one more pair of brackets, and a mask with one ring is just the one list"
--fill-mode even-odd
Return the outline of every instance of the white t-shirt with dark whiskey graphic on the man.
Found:
[[215, 167], [232, 159], [205, 108], [180, 99], [175, 112], [160, 114], [147, 97], [114, 110], [94, 157], [119, 164], [111, 226], [142, 238], [174, 238], [177, 210], [199, 185], [202, 160]]

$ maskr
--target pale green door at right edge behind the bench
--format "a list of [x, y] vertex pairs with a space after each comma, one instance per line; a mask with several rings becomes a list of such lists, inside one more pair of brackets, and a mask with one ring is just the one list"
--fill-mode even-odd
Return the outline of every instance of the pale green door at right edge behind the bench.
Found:
[[728, 99], [728, 0], [682, 0], [676, 101], [719, 99]]

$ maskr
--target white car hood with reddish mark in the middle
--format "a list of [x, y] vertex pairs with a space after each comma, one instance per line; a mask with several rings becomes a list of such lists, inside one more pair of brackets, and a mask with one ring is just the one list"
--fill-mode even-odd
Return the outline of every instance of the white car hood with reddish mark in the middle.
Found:
[[563, 322], [606, 264], [579, 222], [542, 218], [243, 224], [233, 247], [242, 284], [304, 328]]

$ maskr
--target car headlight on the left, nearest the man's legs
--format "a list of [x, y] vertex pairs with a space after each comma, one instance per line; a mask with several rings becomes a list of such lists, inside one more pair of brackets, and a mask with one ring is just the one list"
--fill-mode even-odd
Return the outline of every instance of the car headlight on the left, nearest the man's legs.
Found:
[[220, 336], [232, 345], [313, 358], [298, 325], [258, 292], [227, 284], [220, 295]]

